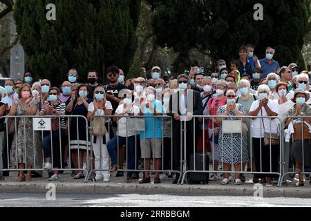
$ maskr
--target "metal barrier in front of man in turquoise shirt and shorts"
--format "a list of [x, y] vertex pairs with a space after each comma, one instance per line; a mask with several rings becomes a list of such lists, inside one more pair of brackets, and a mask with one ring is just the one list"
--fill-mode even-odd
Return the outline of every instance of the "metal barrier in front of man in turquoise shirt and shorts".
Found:
[[[96, 121], [96, 119], [100, 119], [100, 121]], [[118, 121], [118, 126], [114, 129], [111, 124], [113, 119]], [[90, 122], [91, 153], [93, 151], [95, 155], [95, 169], [89, 171], [86, 180], [90, 180], [89, 178], [93, 175], [93, 172], [101, 178], [105, 176], [105, 173], [108, 176], [109, 172], [111, 172], [111, 166], [116, 166], [117, 171], [129, 173], [129, 177], [131, 177], [131, 173], [140, 172], [181, 173], [180, 169], [173, 168], [171, 117], [164, 115], [93, 116]], [[95, 126], [95, 124], [97, 125]], [[105, 129], [102, 131], [104, 125]], [[93, 134], [95, 128], [96, 135]], [[117, 135], [111, 135], [113, 131], [117, 131]], [[105, 133], [105, 135], [102, 133]], [[113, 138], [110, 139], [111, 137]], [[123, 146], [126, 148], [124, 168], [124, 159], [120, 159], [120, 157], [124, 157], [120, 154]], [[143, 168], [142, 165], [139, 165], [139, 162], [143, 165]], [[91, 163], [91, 165], [94, 164]]]

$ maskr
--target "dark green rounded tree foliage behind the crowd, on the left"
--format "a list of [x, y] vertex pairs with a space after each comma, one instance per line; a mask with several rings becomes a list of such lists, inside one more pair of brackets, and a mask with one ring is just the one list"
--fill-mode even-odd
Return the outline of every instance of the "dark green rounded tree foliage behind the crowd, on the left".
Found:
[[[56, 21], [46, 19], [46, 5], [56, 6]], [[135, 29], [140, 1], [131, 0], [17, 0], [14, 17], [28, 68], [37, 77], [60, 83], [72, 67], [81, 80], [89, 69], [115, 64], [125, 71], [135, 54]]]

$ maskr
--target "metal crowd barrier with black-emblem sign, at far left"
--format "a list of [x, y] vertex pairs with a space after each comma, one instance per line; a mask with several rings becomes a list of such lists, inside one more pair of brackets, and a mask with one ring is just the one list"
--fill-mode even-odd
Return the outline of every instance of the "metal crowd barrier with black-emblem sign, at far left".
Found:
[[[88, 145], [88, 121], [86, 117], [80, 116], [80, 115], [60, 115], [60, 116], [3, 116], [0, 117], [0, 119], [5, 119], [6, 126], [4, 128], [4, 139], [6, 142], [3, 142], [6, 144], [6, 147], [2, 146], [0, 144], [0, 148], [3, 148], [3, 151], [6, 151], [6, 162], [8, 163], [6, 165], [6, 169], [1, 169], [0, 171], [45, 171], [44, 169], [44, 148], [41, 146], [42, 140], [44, 140], [44, 137], [48, 137], [50, 135], [50, 160], [52, 164], [52, 169], [49, 169], [50, 171], [84, 171], [86, 173], [86, 177], [88, 176], [88, 171], [90, 170], [89, 164], [88, 164], [88, 159], [89, 159], [89, 145]], [[53, 129], [53, 120], [58, 121], [58, 129], [56, 131], [52, 131]], [[56, 119], [55, 119], [56, 118]], [[26, 122], [27, 120], [30, 120], [30, 122]], [[35, 119], [35, 126], [34, 127], [34, 119]], [[62, 128], [62, 119], [65, 120], [66, 124], [68, 122], [72, 122], [75, 120], [77, 122], [76, 128], [72, 128], [72, 125], [68, 124], [68, 130], [65, 128]], [[86, 125], [84, 128], [80, 125], [79, 126], [79, 119]], [[12, 121], [12, 123], [10, 123]], [[13, 124], [11, 126], [11, 124]], [[28, 124], [26, 126], [26, 124]], [[80, 123], [81, 124], [81, 123]], [[57, 123], [55, 124], [57, 125]], [[9, 128], [10, 126], [10, 128]], [[28, 127], [30, 126], [30, 128]], [[34, 131], [37, 130], [37, 131]], [[67, 130], [67, 131], [66, 131]], [[82, 131], [82, 133], [85, 134], [85, 140], [80, 140], [81, 137], [79, 137], [79, 131]], [[26, 137], [29, 131], [32, 131], [32, 137], [29, 140], [29, 137]], [[71, 142], [70, 144], [70, 131], [72, 134], [76, 134], [77, 137], [75, 142]], [[75, 131], [77, 131], [75, 133]], [[13, 132], [13, 133], [12, 133]], [[58, 134], [56, 134], [58, 133]], [[64, 134], [65, 133], [65, 134]], [[81, 133], [81, 132], [80, 132]], [[57, 140], [53, 140], [53, 135], [56, 135], [58, 137]], [[62, 138], [63, 137], [63, 138]], [[26, 142], [27, 140], [27, 142]], [[57, 142], [57, 144], [55, 144]], [[82, 143], [85, 143], [82, 144]], [[77, 166], [73, 166], [71, 164], [72, 162], [72, 150], [70, 147], [74, 146], [73, 144], [75, 143], [75, 146], [77, 146]], [[12, 146], [10, 146], [11, 144]], [[56, 146], [55, 146], [56, 145]], [[59, 147], [58, 147], [59, 145]], [[66, 149], [66, 145], [68, 145], [68, 166], [66, 168], [64, 167], [64, 162], [63, 162], [63, 155], [64, 155], [64, 148]], [[28, 146], [32, 146], [32, 149], [28, 149]], [[83, 148], [84, 146], [84, 148]], [[5, 150], [6, 148], [6, 150]], [[57, 148], [55, 150], [54, 148]], [[83, 163], [80, 163], [80, 151], [82, 149], [86, 149], [86, 168], [84, 168]], [[23, 154], [22, 155], [20, 154]], [[27, 162], [27, 154], [33, 154], [30, 157], [33, 157], [32, 162], [30, 163], [29, 161]], [[20, 156], [19, 156], [20, 155]], [[55, 157], [55, 155], [58, 155]], [[15, 156], [13, 160], [15, 160], [15, 164], [13, 165], [10, 159], [12, 156]], [[19, 157], [22, 157], [22, 163], [24, 164], [24, 169], [19, 168]], [[54, 165], [54, 162], [58, 161], [60, 164], [60, 168], [56, 168]], [[3, 165], [5, 166], [5, 165]], [[32, 168], [27, 168], [27, 166], [32, 166]], [[13, 168], [14, 167], [14, 168]], [[75, 168], [76, 167], [76, 168]]]

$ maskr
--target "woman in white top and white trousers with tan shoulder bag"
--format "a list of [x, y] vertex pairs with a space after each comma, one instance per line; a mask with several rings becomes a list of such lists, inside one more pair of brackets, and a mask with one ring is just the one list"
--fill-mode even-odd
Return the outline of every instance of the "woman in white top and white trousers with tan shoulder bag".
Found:
[[[106, 121], [105, 117], [112, 114], [113, 107], [111, 102], [106, 100], [106, 93], [104, 88], [98, 86], [94, 90], [94, 102], [88, 105], [88, 121], [90, 122], [94, 116], [102, 116], [101, 120]], [[109, 153], [106, 144], [109, 142], [108, 124], [106, 124], [106, 133], [102, 135], [93, 135], [92, 144], [95, 156], [95, 169], [103, 169], [106, 171], [96, 171], [95, 181], [103, 180], [104, 182], [110, 181], [110, 165]]]

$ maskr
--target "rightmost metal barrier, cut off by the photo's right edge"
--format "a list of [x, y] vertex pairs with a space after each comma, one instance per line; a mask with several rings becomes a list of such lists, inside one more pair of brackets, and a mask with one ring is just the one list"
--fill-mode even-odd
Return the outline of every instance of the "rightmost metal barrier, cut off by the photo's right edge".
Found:
[[[286, 175], [311, 174], [311, 127], [310, 122], [307, 121], [311, 122], [310, 116], [290, 116], [283, 120], [285, 139], [282, 140], [282, 175], [279, 186]], [[292, 166], [289, 164], [290, 161], [292, 161]]]

